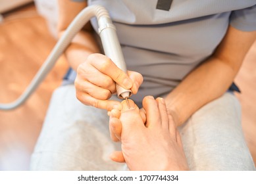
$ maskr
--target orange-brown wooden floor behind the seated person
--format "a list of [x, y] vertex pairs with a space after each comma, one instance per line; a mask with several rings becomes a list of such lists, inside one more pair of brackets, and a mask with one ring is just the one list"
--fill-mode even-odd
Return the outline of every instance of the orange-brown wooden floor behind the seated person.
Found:
[[[29, 14], [14, 12], [0, 24], [0, 103], [14, 101], [24, 91], [53, 46], [55, 39], [34, 7]], [[30, 155], [45, 117], [53, 89], [66, 69], [61, 57], [36, 93], [20, 108], [0, 111], [0, 170], [28, 170]], [[243, 129], [256, 163], [256, 42], [236, 78], [242, 89]]]

